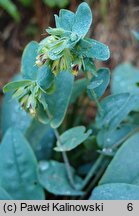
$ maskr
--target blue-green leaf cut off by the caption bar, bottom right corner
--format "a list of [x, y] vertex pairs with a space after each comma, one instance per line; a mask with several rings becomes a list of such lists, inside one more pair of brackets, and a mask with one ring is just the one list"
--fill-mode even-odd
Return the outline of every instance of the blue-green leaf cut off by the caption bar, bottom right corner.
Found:
[[96, 187], [90, 200], [139, 200], [139, 187], [124, 183]]

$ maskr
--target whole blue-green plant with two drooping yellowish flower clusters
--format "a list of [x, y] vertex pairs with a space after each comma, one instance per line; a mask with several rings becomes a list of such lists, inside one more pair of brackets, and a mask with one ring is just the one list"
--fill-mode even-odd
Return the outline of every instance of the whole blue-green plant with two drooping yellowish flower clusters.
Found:
[[[20, 75], [3, 89], [0, 198], [139, 199], [139, 97], [131, 75], [138, 79], [138, 69], [116, 68], [112, 94], [100, 102], [110, 72], [95, 60], [109, 59], [110, 51], [87, 37], [89, 6], [80, 4], [75, 14], [62, 9], [55, 21], [50, 36], [27, 45]], [[119, 70], [128, 71], [124, 79]], [[90, 101], [98, 109], [86, 129]]]

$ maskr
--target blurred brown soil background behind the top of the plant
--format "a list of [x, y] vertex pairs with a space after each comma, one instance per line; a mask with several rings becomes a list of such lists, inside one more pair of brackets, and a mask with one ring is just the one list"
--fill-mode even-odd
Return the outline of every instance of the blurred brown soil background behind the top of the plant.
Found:
[[[30, 40], [39, 41], [44, 37], [45, 28], [54, 26], [53, 14], [58, 9], [49, 8], [40, 0], [25, 8], [17, 5], [22, 20], [16, 23], [4, 10], [0, 9], [0, 92], [14, 74], [20, 71], [22, 51]], [[81, 1], [70, 1], [68, 9], [73, 11]], [[139, 43], [131, 30], [139, 30], [139, 0], [113, 0], [102, 7], [102, 1], [89, 1], [93, 10], [93, 26], [90, 35], [111, 50], [111, 58], [97, 66], [108, 66], [111, 70], [117, 64], [128, 61], [139, 67]], [[92, 3], [93, 2], [93, 3]], [[46, 33], [45, 33], [46, 35]]]

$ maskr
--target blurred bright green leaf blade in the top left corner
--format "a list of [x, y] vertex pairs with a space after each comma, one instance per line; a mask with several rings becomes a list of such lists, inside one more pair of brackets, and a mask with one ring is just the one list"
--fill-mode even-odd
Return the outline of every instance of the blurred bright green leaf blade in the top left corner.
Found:
[[0, 6], [5, 9], [16, 22], [20, 22], [21, 16], [16, 5], [11, 0], [0, 0]]

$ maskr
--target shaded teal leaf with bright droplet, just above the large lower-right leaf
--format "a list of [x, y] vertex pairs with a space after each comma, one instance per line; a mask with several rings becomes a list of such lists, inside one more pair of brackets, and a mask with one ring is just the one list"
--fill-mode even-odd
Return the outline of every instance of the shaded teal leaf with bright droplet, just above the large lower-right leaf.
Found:
[[101, 148], [113, 148], [134, 129], [135, 126], [130, 124], [123, 124], [115, 129], [102, 129], [97, 134], [97, 143]]

